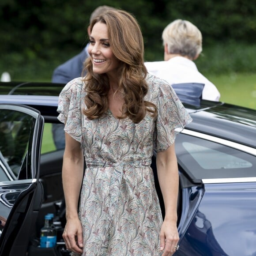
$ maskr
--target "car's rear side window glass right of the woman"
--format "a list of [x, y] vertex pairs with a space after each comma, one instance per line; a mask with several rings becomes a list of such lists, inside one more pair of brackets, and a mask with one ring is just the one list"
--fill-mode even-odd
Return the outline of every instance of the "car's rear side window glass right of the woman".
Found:
[[175, 149], [179, 165], [192, 179], [255, 177], [255, 156], [238, 149], [182, 133]]

